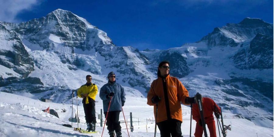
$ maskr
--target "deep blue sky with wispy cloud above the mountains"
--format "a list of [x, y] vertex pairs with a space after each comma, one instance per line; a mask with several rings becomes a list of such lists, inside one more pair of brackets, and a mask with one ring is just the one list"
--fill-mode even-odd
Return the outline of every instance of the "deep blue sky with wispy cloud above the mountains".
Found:
[[167, 49], [192, 43], [246, 17], [273, 23], [273, 0], [0, 0], [0, 21], [23, 22], [64, 9], [107, 33], [117, 46]]

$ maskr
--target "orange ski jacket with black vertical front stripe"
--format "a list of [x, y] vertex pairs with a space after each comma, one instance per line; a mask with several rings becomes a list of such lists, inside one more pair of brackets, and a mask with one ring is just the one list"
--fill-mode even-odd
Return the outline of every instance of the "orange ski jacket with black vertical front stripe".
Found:
[[158, 77], [150, 86], [147, 94], [147, 104], [154, 106], [154, 116], [156, 117], [156, 104], [151, 102], [152, 97], [159, 96], [161, 98], [158, 103], [157, 123], [167, 119], [182, 120], [181, 103], [188, 97], [188, 90], [175, 77], [167, 75], [166, 77]]

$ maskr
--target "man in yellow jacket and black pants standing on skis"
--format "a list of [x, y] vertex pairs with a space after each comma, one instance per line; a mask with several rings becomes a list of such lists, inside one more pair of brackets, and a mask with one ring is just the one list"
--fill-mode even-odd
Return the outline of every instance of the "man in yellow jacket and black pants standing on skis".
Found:
[[96, 115], [95, 115], [95, 96], [98, 93], [98, 88], [94, 83], [91, 83], [91, 76], [86, 76], [86, 84], [82, 85], [77, 94], [83, 98], [83, 107], [88, 131], [95, 131]]

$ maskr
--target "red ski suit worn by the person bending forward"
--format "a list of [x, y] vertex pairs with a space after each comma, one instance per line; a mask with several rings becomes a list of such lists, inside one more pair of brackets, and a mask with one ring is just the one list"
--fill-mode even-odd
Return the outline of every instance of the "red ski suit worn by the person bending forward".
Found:
[[[221, 109], [211, 98], [208, 98], [208, 97], [202, 98], [202, 107], [203, 107], [205, 122], [206, 122], [207, 128], [209, 129], [210, 137], [217, 137], [213, 112], [216, 118], [220, 118]], [[204, 131], [202, 127], [202, 120], [201, 120], [200, 111], [198, 108], [198, 103], [193, 104], [192, 115], [193, 115], [193, 119], [196, 121], [196, 128], [195, 128], [194, 135], [195, 137], [202, 137]]]

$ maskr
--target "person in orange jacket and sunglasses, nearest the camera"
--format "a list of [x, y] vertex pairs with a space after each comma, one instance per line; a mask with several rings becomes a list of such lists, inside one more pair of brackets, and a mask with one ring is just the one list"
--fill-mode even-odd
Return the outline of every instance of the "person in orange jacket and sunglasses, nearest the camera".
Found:
[[[181, 137], [181, 102], [195, 103], [195, 98], [188, 96], [188, 90], [179, 79], [169, 75], [169, 69], [168, 61], [162, 61], [159, 64], [158, 78], [151, 83], [147, 104], [154, 106], [154, 116], [161, 137], [170, 137], [170, 134], [172, 137]], [[156, 112], [156, 105], [158, 105], [158, 112]]]

